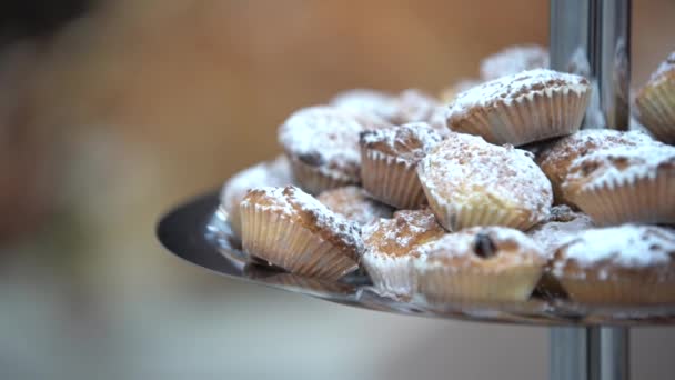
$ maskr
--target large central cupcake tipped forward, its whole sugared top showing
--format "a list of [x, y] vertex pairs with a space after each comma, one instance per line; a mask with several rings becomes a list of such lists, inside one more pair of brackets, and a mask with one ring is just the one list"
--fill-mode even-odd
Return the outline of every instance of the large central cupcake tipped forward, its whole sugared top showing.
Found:
[[420, 162], [417, 174], [439, 222], [527, 230], [548, 217], [553, 193], [532, 154], [452, 133]]

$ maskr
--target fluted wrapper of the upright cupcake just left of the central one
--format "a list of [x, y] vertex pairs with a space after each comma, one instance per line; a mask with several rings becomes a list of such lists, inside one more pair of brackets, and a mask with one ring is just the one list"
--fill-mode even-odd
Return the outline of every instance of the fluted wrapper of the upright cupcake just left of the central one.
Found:
[[361, 150], [363, 188], [379, 201], [397, 209], [417, 209], [426, 202], [416, 166], [376, 150]]

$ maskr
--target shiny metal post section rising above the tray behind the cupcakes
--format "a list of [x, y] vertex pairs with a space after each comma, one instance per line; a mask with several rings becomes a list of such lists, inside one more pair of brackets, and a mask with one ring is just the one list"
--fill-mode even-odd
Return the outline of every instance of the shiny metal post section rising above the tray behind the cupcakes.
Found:
[[584, 127], [628, 130], [631, 0], [552, 0], [551, 68], [593, 84]]

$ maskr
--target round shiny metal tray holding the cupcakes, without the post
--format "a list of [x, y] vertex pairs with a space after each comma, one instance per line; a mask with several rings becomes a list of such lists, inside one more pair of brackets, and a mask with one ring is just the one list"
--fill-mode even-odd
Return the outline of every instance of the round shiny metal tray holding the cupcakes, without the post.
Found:
[[160, 221], [157, 234], [175, 256], [216, 273], [370, 310], [541, 326], [675, 324], [675, 306], [590, 307], [535, 297], [513, 303], [427, 304], [420, 299], [392, 299], [379, 294], [365, 277], [347, 276], [339, 282], [326, 282], [249, 263], [238, 249], [224, 214], [218, 211], [216, 192], [199, 197], [167, 214]]

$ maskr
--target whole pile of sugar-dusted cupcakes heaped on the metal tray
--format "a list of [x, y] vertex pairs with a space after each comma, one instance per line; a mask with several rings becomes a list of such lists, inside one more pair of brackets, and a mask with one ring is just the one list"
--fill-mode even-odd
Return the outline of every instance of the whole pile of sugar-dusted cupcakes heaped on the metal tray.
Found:
[[[432, 303], [525, 301], [537, 287], [675, 302], [675, 147], [578, 131], [588, 80], [546, 57], [505, 50], [445, 107], [417, 90], [351, 90], [294, 112], [279, 128], [284, 158], [224, 187], [243, 249], [310, 278], [362, 268], [382, 293]], [[672, 60], [636, 100], [662, 141]]]

